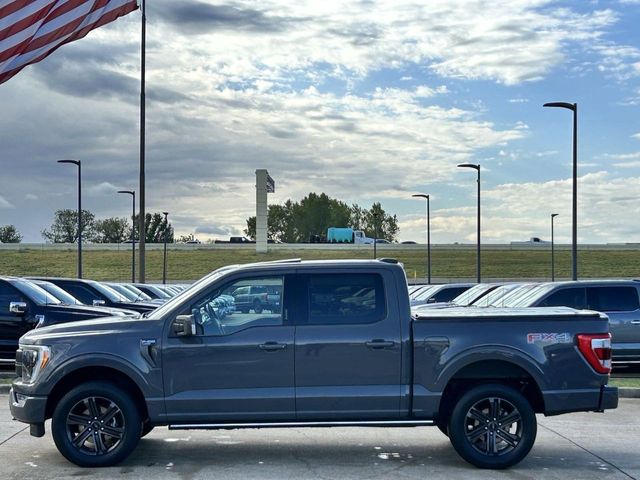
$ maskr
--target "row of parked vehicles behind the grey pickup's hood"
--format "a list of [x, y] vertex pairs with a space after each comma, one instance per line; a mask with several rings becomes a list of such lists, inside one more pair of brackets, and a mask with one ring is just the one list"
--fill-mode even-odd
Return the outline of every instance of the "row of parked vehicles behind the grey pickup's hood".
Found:
[[60, 322], [150, 312], [187, 285], [0, 276], [0, 367], [13, 368], [18, 339]]

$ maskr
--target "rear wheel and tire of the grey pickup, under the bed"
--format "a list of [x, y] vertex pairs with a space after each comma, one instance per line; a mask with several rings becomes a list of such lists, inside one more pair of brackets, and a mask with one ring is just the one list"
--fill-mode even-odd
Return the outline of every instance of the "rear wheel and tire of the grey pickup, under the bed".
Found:
[[520, 462], [533, 447], [536, 432], [531, 404], [518, 391], [500, 384], [480, 385], [462, 395], [448, 431], [458, 455], [476, 467], [491, 469]]

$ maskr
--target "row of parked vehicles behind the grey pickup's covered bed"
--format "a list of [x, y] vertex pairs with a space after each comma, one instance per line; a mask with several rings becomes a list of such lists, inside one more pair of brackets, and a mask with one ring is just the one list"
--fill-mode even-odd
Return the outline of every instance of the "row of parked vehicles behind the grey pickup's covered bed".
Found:
[[612, 361], [640, 367], [640, 280], [411, 285], [411, 310], [569, 307], [609, 317]]

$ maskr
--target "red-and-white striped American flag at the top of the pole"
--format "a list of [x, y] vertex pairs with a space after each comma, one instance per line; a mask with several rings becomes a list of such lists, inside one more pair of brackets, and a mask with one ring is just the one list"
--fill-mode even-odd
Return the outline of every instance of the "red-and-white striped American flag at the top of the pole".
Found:
[[137, 8], [136, 0], [0, 0], [0, 83]]

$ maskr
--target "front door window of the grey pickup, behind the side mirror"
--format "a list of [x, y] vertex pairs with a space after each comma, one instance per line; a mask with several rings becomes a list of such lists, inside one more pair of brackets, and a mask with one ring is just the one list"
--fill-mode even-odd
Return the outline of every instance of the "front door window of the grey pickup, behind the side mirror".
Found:
[[205, 336], [282, 325], [282, 295], [269, 295], [267, 289], [282, 292], [283, 286], [283, 277], [236, 280], [197, 300], [191, 305], [190, 313], [198, 332]]

